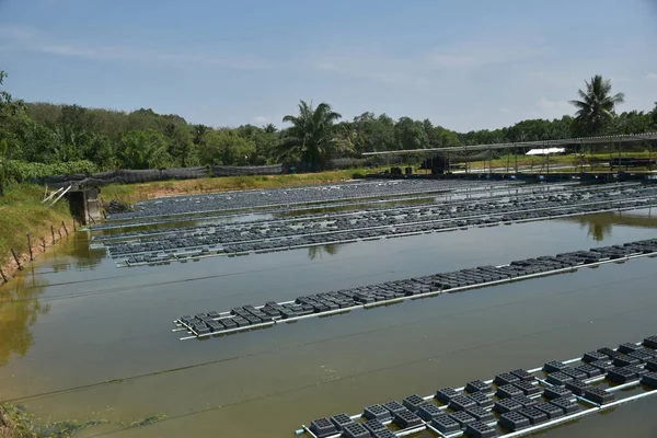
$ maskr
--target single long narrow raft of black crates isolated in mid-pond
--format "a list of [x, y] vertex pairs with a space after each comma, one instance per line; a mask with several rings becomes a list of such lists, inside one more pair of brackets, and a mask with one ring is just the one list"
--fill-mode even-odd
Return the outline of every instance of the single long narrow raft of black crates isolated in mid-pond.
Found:
[[433, 297], [443, 292], [572, 273], [580, 267], [623, 263], [645, 256], [657, 256], [657, 239], [520, 260], [502, 266], [479, 266], [327, 293], [308, 295], [293, 301], [269, 301], [260, 307], [243, 306], [226, 312], [208, 310], [194, 316], [184, 315], [176, 319], [174, 321], [176, 327], [173, 332], [186, 333], [181, 341], [220, 336], [308, 318], [327, 316], [408, 299]]

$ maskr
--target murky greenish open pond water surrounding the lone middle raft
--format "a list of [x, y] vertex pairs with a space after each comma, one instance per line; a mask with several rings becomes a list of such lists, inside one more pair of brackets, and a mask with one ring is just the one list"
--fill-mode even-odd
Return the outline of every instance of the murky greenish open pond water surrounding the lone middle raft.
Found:
[[[289, 437], [311, 419], [657, 334], [657, 260], [180, 342], [184, 313], [655, 237], [642, 210], [116, 268], [87, 234], [0, 289], [0, 395], [80, 436]], [[653, 436], [648, 399], [546, 436]], [[122, 420], [169, 419], [116, 431]], [[627, 429], [630, 427], [630, 429]]]

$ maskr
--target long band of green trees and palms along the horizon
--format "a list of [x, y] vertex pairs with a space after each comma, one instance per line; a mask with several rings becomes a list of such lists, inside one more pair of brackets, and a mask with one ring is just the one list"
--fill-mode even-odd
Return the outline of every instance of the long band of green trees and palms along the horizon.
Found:
[[[0, 85], [7, 78], [0, 72]], [[618, 114], [623, 94], [611, 93], [600, 76], [585, 82], [572, 101], [576, 113], [561, 118], [528, 119], [499, 129], [457, 132], [429, 119], [393, 119], [362, 113], [342, 120], [331, 105], [301, 101], [288, 126], [209, 127], [150, 108], [119, 112], [79, 105], [25, 103], [0, 90], [0, 160], [13, 163], [83, 163], [82, 169], [163, 169], [195, 165], [299, 163], [322, 170], [328, 159], [362, 152], [522, 142], [592, 135], [657, 130], [652, 112]], [[84, 164], [85, 163], [85, 164]], [[77, 164], [80, 168], [80, 164]]]

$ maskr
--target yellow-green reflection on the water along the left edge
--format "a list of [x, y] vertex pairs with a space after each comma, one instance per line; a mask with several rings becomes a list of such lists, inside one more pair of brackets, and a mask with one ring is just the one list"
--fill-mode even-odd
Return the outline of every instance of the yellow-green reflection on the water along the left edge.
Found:
[[48, 283], [36, 277], [31, 267], [0, 287], [0, 367], [12, 354], [25, 356], [34, 344], [30, 327], [39, 315], [50, 311], [50, 304], [42, 306], [38, 301], [47, 286]]

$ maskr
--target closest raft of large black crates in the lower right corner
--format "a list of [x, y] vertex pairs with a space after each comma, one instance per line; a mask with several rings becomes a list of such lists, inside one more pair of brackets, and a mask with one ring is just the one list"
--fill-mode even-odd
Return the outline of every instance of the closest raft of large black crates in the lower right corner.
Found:
[[[530, 435], [585, 415], [657, 394], [657, 336], [600, 348], [541, 368], [473, 380], [401, 403], [367, 406], [301, 426], [312, 438], [404, 437], [428, 430], [439, 437], [507, 438]], [[627, 393], [632, 394], [629, 395]]]

